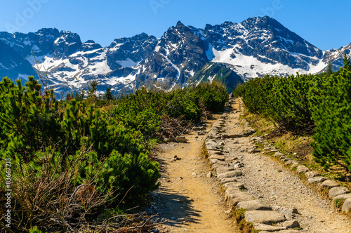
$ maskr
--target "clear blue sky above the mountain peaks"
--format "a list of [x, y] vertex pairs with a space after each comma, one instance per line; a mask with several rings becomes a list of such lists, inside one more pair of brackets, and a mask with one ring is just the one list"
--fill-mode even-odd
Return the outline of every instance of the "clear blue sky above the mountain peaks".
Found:
[[82, 41], [108, 46], [145, 32], [160, 37], [178, 20], [242, 22], [269, 15], [314, 46], [327, 50], [351, 43], [350, 0], [0, 0], [0, 31], [37, 32], [43, 27], [76, 32]]

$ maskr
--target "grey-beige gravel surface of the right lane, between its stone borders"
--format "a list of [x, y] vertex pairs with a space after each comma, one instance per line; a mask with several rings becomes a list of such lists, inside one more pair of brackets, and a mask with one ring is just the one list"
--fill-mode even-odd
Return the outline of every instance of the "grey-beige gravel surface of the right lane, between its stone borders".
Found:
[[[235, 111], [239, 109], [239, 100], [232, 102], [232, 107], [234, 110], [225, 118], [224, 129], [242, 131], [238, 124], [240, 112]], [[351, 232], [350, 219], [334, 211], [329, 200], [322, 199], [296, 174], [271, 157], [260, 152], [252, 153], [256, 147], [250, 138], [223, 140], [223, 149], [231, 156], [237, 156], [244, 165], [241, 168], [243, 175], [237, 178], [246, 187], [244, 192], [269, 204], [274, 211], [283, 213], [295, 209], [297, 213], [293, 213], [290, 220], [298, 220], [302, 232]]]

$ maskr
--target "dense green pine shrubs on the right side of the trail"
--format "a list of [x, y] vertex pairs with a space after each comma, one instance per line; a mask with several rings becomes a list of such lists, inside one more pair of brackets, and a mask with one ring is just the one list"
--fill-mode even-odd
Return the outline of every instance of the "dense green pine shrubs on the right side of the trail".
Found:
[[351, 171], [351, 66], [324, 75], [252, 79], [234, 90], [250, 112], [289, 131], [313, 133], [314, 160]]

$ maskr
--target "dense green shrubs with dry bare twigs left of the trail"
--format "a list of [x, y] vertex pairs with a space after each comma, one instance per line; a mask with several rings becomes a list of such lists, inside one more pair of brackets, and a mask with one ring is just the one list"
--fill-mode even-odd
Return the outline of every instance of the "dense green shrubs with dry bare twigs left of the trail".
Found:
[[[134, 205], [159, 185], [149, 141], [164, 119], [199, 122], [203, 111], [222, 111], [227, 101], [216, 82], [171, 92], [141, 88], [117, 98], [110, 90], [103, 100], [95, 89], [86, 100], [77, 94], [56, 100], [33, 77], [25, 86], [0, 81], [0, 166], [11, 159], [15, 232], [35, 226], [74, 232], [122, 199]], [[0, 179], [4, 203], [6, 171]], [[1, 227], [5, 211], [1, 206]]]

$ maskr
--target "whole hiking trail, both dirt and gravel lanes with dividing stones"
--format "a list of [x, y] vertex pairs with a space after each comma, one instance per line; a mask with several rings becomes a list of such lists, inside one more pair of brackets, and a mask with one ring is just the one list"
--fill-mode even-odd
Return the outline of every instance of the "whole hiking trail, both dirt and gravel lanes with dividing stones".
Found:
[[[231, 99], [223, 115], [208, 121], [206, 135], [192, 131], [187, 143], [159, 146], [161, 186], [148, 207], [168, 220], [159, 232], [241, 232], [229, 218], [232, 206], [246, 206], [245, 219], [262, 233], [351, 232], [350, 218], [256, 149], [247, 133], [250, 127], [239, 119], [239, 104]], [[210, 177], [208, 161], [201, 156], [205, 140], [216, 177]]]

